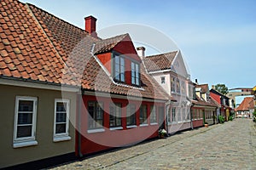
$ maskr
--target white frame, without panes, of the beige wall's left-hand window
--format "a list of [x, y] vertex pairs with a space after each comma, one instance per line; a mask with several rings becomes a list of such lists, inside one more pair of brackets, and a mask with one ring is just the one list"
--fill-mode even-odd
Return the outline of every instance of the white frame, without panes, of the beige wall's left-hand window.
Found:
[[[32, 101], [33, 110], [32, 110], [32, 135], [29, 137], [17, 138], [17, 128], [18, 128], [18, 114], [19, 114], [19, 102], [20, 100]], [[15, 100], [15, 123], [14, 123], [14, 141], [13, 147], [19, 148], [24, 146], [36, 145], [36, 126], [37, 126], [37, 109], [38, 107], [38, 98], [36, 97], [25, 97], [25, 96], [16, 96]]]

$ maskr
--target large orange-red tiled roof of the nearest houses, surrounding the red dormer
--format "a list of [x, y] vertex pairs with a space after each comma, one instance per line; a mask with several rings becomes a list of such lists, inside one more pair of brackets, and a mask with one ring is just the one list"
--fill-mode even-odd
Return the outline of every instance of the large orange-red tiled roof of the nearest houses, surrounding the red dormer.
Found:
[[91, 54], [94, 43], [96, 53], [103, 53], [127, 34], [105, 40], [90, 37], [86, 31], [18, 1], [5, 0], [0, 3], [0, 10], [0, 77], [82, 86], [148, 99], [171, 98], [143, 67], [142, 88], [113, 82]]

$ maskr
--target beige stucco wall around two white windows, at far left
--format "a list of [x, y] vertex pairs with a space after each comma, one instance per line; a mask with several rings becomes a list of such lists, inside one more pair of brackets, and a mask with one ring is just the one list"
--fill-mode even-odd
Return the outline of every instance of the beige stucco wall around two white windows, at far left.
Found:
[[[36, 127], [38, 145], [13, 148], [16, 96], [38, 98]], [[55, 99], [61, 99], [61, 91], [0, 85], [0, 168], [74, 152], [75, 130], [71, 122], [69, 124], [71, 140], [53, 142]], [[75, 120], [76, 94], [65, 93], [65, 99], [70, 99], [70, 116]]]

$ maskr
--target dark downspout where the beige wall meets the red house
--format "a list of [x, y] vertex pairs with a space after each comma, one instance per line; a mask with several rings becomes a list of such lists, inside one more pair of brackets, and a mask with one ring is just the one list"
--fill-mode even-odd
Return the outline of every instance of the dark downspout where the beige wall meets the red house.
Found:
[[83, 89], [82, 87], [80, 88], [79, 94], [78, 94], [78, 98], [79, 98], [79, 111], [78, 111], [78, 129], [79, 129], [79, 136], [78, 136], [78, 140], [79, 140], [79, 157], [83, 157], [81, 148], [82, 148], [82, 136], [81, 136], [81, 106], [82, 106], [82, 97], [83, 97]]

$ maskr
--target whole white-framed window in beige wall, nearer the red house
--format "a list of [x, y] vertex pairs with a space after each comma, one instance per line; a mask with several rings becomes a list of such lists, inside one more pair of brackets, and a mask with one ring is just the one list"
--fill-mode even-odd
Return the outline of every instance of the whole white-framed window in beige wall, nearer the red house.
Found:
[[54, 141], [71, 139], [69, 131], [69, 99], [55, 99]]

